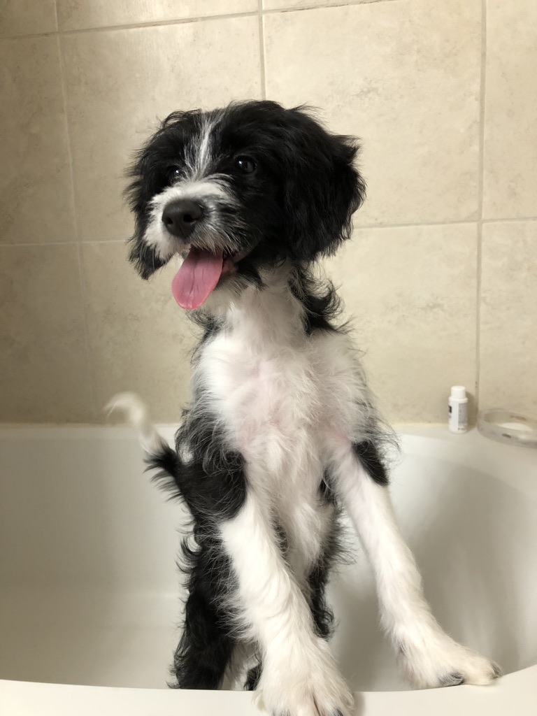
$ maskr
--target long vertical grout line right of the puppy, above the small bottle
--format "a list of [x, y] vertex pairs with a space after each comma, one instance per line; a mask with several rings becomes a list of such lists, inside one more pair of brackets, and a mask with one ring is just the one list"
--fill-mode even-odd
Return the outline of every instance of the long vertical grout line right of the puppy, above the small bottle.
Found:
[[483, 260], [483, 193], [485, 183], [485, 89], [487, 71], [487, 0], [481, 0], [481, 65], [478, 165], [478, 246], [475, 296], [475, 407], [479, 410], [481, 378], [481, 282]]

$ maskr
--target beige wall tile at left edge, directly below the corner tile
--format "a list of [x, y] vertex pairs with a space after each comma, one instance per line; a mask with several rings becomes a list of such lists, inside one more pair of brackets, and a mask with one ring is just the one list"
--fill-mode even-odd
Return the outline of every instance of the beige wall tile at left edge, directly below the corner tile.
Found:
[[57, 37], [0, 42], [0, 243], [74, 238]]

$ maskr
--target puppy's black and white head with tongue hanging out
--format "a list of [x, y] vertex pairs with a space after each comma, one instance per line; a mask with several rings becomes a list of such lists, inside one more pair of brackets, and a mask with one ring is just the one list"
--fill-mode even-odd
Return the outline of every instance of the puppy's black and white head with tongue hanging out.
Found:
[[334, 253], [364, 198], [356, 153], [276, 102], [174, 112], [130, 170], [130, 261], [147, 279], [183, 256], [173, 294], [197, 309], [223, 286], [260, 284], [263, 268]]

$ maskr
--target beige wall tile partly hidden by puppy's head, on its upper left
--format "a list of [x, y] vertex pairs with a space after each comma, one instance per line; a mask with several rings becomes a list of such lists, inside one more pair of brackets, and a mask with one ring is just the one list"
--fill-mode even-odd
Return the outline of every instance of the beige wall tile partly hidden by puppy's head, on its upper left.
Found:
[[256, 17], [64, 37], [79, 236], [127, 236], [122, 173], [169, 112], [261, 94]]

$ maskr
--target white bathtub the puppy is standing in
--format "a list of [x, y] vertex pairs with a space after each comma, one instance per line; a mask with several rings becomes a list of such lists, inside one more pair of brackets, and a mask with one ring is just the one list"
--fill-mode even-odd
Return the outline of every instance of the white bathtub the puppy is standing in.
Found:
[[[143, 474], [134, 432], [0, 432], [1, 714], [258, 713], [246, 692], [166, 688], [184, 513]], [[357, 714], [535, 716], [537, 451], [440, 428], [405, 429], [402, 448], [392, 494], [425, 593], [443, 627], [507, 675], [406, 690], [357, 547], [331, 587], [333, 648]]]

